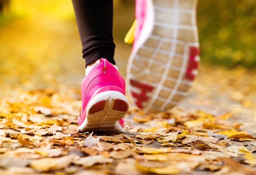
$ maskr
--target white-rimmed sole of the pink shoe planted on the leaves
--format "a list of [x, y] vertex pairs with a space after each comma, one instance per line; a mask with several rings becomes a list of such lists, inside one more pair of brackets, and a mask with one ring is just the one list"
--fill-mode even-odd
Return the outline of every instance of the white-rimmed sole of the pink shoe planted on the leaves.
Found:
[[129, 108], [127, 98], [120, 92], [109, 90], [93, 97], [86, 109], [86, 118], [79, 126], [79, 132], [123, 133], [118, 120]]

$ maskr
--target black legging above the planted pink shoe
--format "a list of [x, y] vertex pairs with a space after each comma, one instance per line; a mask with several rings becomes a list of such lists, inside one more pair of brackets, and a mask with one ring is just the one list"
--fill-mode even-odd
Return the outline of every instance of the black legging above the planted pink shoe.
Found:
[[97, 59], [114, 61], [113, 0], [72, 0], [86, 67]]

